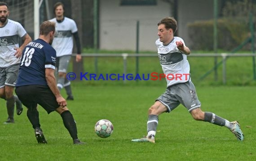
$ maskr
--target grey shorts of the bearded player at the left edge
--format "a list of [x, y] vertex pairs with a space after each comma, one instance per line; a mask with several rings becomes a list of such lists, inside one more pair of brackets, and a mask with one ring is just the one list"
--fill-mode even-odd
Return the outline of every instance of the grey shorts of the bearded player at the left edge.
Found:
[[19, 67], [19, 64], [14, 64], [6, 68], [0, 68], [0, 88], [4, 86], [15, 87]]

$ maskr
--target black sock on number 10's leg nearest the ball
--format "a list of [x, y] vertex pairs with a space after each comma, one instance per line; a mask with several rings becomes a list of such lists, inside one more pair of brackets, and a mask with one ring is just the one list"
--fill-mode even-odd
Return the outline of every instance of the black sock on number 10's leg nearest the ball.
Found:
[[73, 115], [69, 110], [64, 111], [62, 114], [62, 120], [64, 123], [64, 126], [68, 130], [69, 134], [71, 135], [72, 139], [78, 139], [77, 137], [77, 128], [75, 124], [75, 120]]

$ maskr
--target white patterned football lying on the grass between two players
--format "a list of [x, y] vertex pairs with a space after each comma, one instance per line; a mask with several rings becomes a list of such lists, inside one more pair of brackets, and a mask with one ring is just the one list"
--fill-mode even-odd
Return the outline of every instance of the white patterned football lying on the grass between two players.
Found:
[[106, 119], [99, 120], [94, 128], [95, 133], [101, 138], [108, 138], [114, 130], [113, 124]]

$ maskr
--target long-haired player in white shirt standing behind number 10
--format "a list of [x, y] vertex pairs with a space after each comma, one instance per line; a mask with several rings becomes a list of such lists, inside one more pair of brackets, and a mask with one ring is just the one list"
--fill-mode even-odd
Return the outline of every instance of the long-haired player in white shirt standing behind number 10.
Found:
[[52, 46], [57, 52], [57, 87], [59, 90], [65, 87], [67, 94], [66, 100], [74, 100], [71, 91], [71, 83], [66, 78], [66, 70], [73, 50], [72, 35], [74, 36], [77, 48], [76, 62], [79, 62], [82, 59], [78, 30], [74, 20], [64, 17], [64, 4], [57, 2], [53, 9], [56, 17], [49, 21], [56, 22], [56, 34]]

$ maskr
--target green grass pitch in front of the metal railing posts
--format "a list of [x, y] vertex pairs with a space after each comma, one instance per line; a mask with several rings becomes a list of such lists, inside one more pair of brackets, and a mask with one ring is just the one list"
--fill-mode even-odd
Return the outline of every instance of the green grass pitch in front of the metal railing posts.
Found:
[[[165, 85], [165, 84], [164, 84]], [[39, 107], [41, 128], [48, 144], [37, 144], [26, 117], [7, 118], [5, 101], [0, 100], [0, 161], [255, 161], [256, 87], [197, 86], [204, 111], [230, 121], [238, 120], [243, 142], [225, 127], [194, 121], [183, 106], [159, 116], [156, 143], [133, 143], [146, 135], [147, 110], [165, 90], [163, 86], [85, 86], [72, 84], [74, 101], [68, 108], [75, 117], [79, 138], [86, 145], [75, 146], [56, 112], [49, 115]], [[65, 91], [62, 91], [65, 95]], [[94, 125], [108, 119], [114, 125], [106, 139], [94, 133]]]

